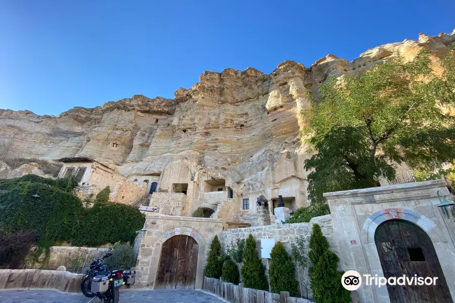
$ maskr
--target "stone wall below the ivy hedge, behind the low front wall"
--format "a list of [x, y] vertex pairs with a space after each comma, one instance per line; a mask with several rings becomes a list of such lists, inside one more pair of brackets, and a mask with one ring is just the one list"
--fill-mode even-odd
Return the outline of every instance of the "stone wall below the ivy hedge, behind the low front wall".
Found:
[[[76, 246], [52, 246], [49, 261], [45, 264], [27, 262], [25, 267], [30, 269], [56, 270], [59, 266], [65, 266], [67, 271], [81, 272], [88, 267], [93, 259], [100, 258], [109, 251], [107, 247], [76, 247]], [[31, 258], [27, 258], [31, 259]], [[44, 260], [44, 253], [38, 258]]]

